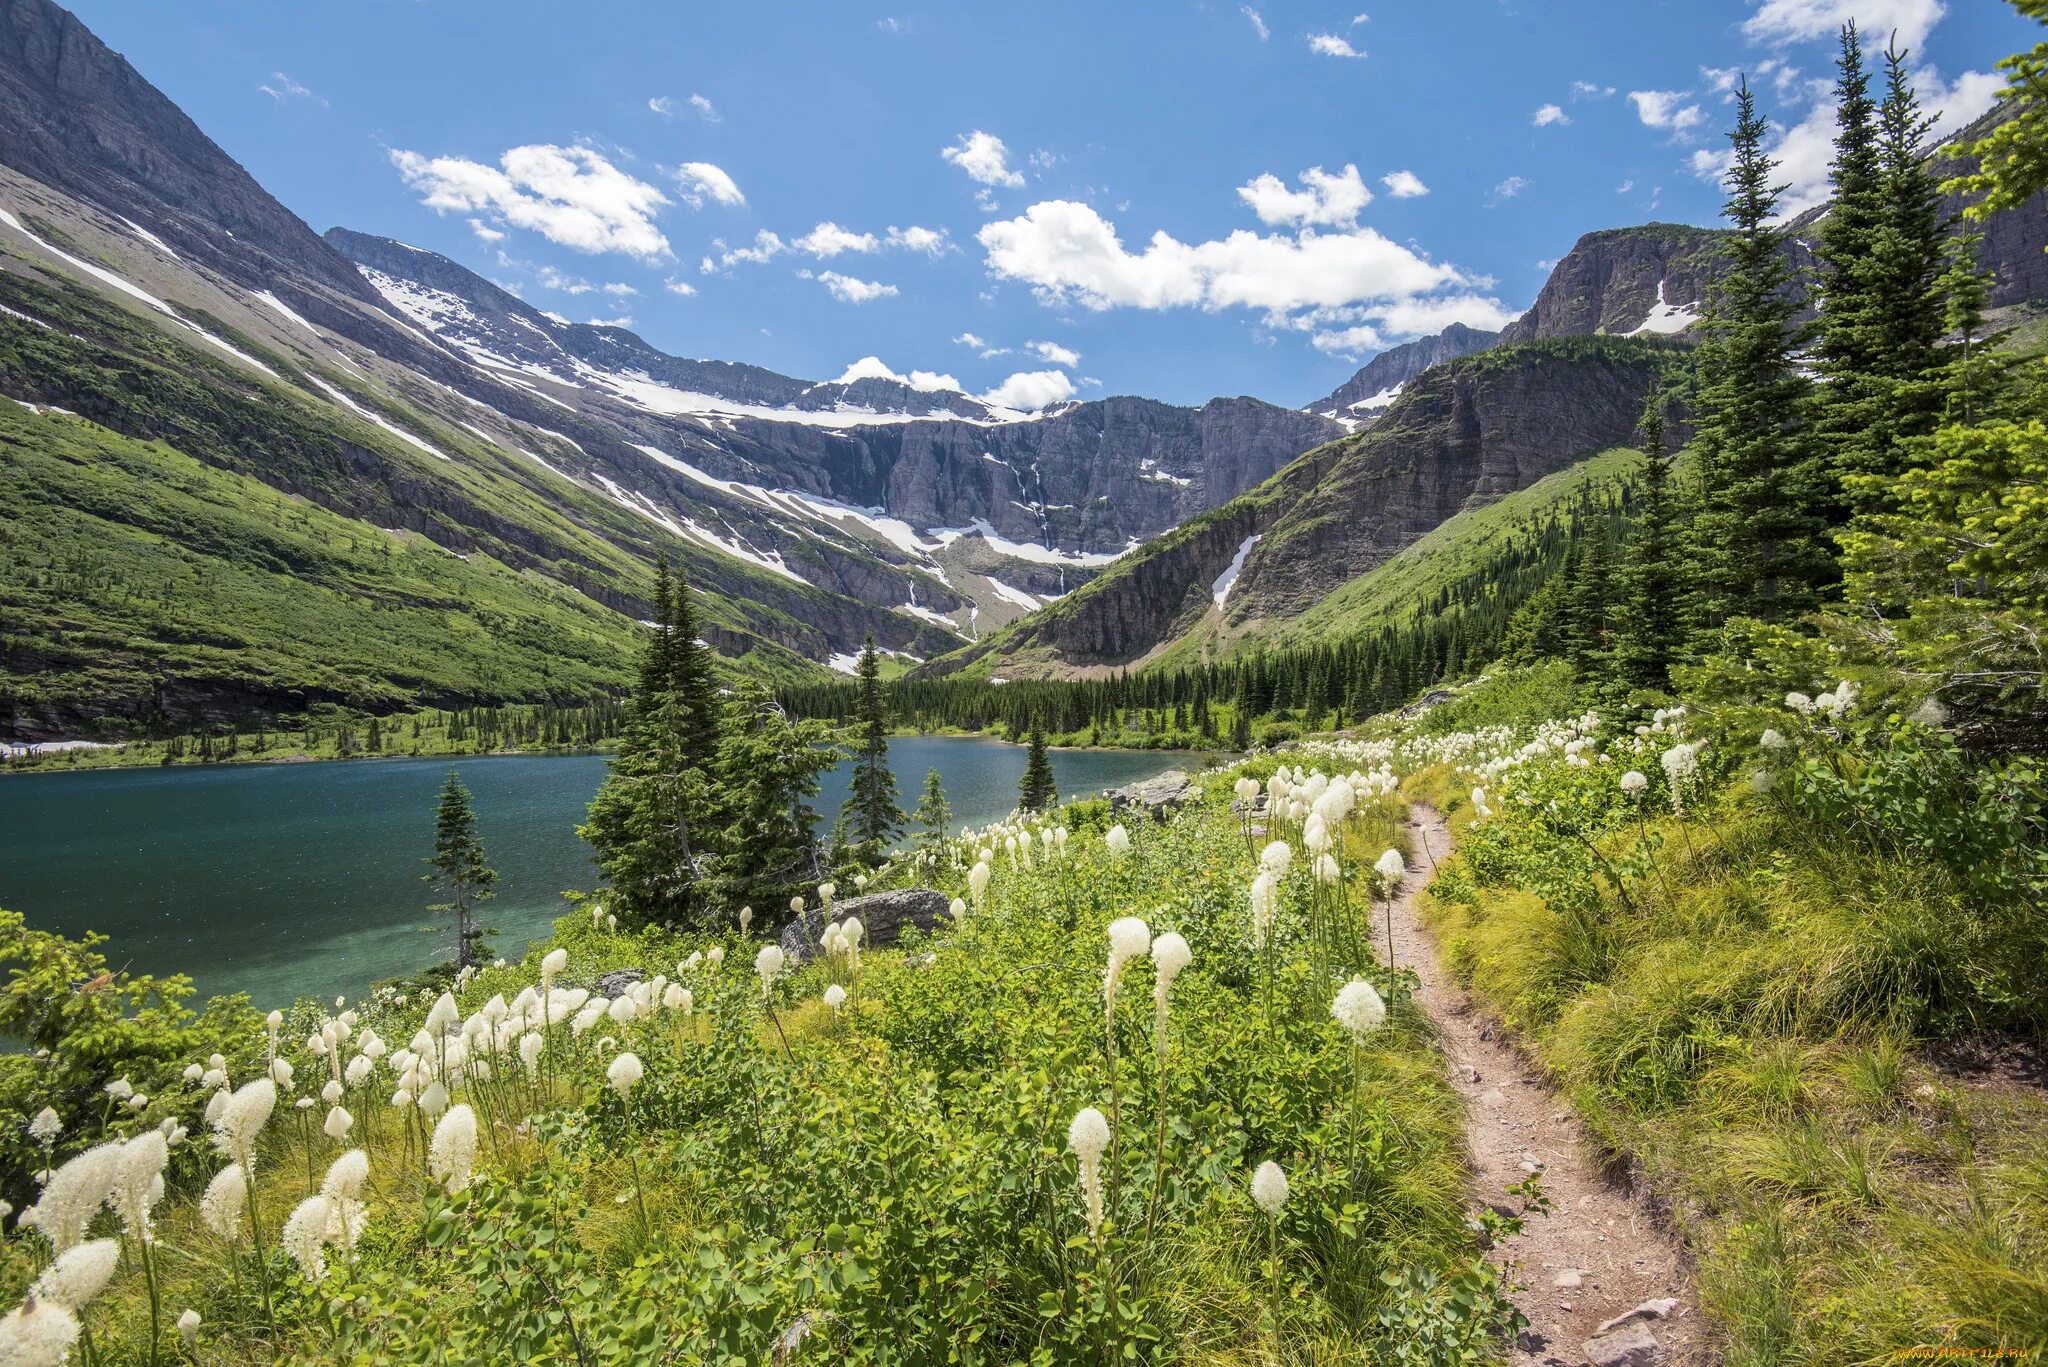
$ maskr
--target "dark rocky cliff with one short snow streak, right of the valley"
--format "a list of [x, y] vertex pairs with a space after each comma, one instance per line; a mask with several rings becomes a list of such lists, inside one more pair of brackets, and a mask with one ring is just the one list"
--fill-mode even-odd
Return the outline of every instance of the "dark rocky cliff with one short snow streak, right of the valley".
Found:
[[1077, 676], [1143, 662], [1198, 623], [1294, 617], [1444, 519], [1628, 445], [1679, 344], [1567, 338], [1434, 367], [1368, 432], [1159, 537], [999, 637], [926, 666]]

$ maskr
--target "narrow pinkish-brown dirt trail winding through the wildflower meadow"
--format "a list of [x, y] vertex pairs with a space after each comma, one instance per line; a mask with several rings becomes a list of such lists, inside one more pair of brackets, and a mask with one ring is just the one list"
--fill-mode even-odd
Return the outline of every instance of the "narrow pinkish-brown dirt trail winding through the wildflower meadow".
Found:
[[[1520, 1306], [1530, 1328], [1513, 1361], [1518, 1367], [1714, 1363], [1679, 1242], [1657, 1226], [1640, 1199], [1585, 1158], [1571, 1103], [1495, 1037], [1493, 1021], [1438, 961], [1415, 900], [1434, 861], [1452, 848], [1444, 818], [1425, 805], [1411, 807], [1409, 844], [1413, 873], [1395, 898], [1395, 957], [1421, 978], [1421, 1004], [1438, 1025], [1452, 1082], [1464, 1094], [1475, 1197], [1518, 1207], [1505, 1187], [1540, 1172], [1556, 1207], [1550, 1215], [1532, 1215], [1524, 1234], [1493, 1250], [1493, 1260], [1511, 1260], [1518, 1281], [1528, 1285]], [[1675, 1303], [1665, 1316], [1645, 1314], [1595, 1334], [1608, 1320], [1667, 1297]]]

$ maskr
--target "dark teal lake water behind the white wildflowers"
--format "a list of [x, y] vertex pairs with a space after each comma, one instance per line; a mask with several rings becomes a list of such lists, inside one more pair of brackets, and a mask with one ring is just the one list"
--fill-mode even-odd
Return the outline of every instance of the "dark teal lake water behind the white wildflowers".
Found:
[[[1016, 805], [1022, 746], [901, 738], [889, 744], [905, 807], [938, 769], [954, 828]], [[1171, 752], [1055, 750], [1067, 797], [1149, 779]], [[453, 953], [453, 930], [426, 912], [420, 877], [432, 853], [434, 797], [451, 760], [348, 760], [113, 769], [0, 779], [0, 906], [39, 930], [98, 930], [109, 963], [190, 974], [199, 996], [248, 992], [262, 1006], [297, 996], [358, 996], [379, 978]], [[516, 955], [549, 933], [565, 887], [594, 887], [575, 838], [604, 758], [453, 760], [473, 795], [477, 834], [498, 869], [483, 922]], [[846, 797], [825, 775], [817, 810]]]

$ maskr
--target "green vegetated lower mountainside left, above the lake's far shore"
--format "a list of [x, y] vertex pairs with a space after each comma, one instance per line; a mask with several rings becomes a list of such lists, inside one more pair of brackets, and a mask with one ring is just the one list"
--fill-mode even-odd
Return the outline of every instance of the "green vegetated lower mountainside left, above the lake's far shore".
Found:
[[670, 537], [360, 375], [319, 379], [440, 455], [61, 281], [0, 271], [0, 301], [18, 728], [612, 697], [655, 547], [688, 557], [727, 658], [817, 672], [778, 641], [815, 635], [793, 609], [831, 613], [827, 594]]

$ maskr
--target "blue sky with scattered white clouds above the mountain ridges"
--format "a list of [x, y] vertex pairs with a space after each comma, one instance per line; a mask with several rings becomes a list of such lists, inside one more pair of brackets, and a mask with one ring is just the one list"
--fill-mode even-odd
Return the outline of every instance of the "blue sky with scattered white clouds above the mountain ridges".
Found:
[[76, 12], [315, 230], [678, 355], [1020, 406], [1309, 402], [1499, 326], [1583, 232], [1712, 221], [1739, 70], [1817, 199], [1843, 16], [1962, 117], [2040, 37], [1999, 0]]

